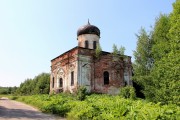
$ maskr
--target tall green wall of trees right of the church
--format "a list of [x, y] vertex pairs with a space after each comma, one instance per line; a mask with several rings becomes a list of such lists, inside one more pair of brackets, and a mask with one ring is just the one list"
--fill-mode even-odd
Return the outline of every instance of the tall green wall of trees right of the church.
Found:
[[141, 28], [134, 51], [133, 80], [145, 98], [180, 104], [180, 0], [161, 14], [150, 32]]

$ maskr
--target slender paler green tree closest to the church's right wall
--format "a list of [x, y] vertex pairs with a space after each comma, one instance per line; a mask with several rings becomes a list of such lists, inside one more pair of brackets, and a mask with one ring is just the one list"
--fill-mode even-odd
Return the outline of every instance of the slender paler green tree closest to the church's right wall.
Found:
[[153, 58], [151, 55], [152, 39], [151, 34], [145, 31], [144, 28], [140, 29], [137, 37], [137, 47], [133, 51], [135, 61], [133, 64], [134, 80], [141, 85], [144, 85], [144, 77], [147, 77], [153, 65]]

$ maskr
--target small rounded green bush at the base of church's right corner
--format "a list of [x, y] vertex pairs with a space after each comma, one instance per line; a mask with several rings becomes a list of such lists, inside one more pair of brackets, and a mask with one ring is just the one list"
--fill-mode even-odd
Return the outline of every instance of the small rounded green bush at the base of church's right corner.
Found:
[[130, 99], [136, 98], [135, 89], [132, 86], [126, 86], [126, 87], [120, 88], [119, 95], [123, 98], [130, 98]]

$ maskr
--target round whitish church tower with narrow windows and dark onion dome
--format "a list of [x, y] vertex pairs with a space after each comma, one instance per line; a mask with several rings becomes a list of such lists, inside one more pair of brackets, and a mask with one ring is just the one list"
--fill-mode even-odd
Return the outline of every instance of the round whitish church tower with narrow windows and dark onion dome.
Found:
[[96, 49], [99, 44], [100, 30], [98, 27], [88, 23], [77, 31], [78, 46], [88, 49]]

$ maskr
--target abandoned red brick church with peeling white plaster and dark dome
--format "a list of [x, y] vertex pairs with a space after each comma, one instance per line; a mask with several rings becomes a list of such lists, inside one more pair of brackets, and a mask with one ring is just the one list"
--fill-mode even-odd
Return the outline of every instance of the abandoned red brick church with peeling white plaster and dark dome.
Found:
[[96, 58], [99, 39], [99, 28], [89, 21], [78, 29], [78, 46], [51, 60], [51, 93], [73, 93], [85, 86], [89, 92], [118, 94], [120, 87], [132, 85], [131, 57], [101, 51]]

